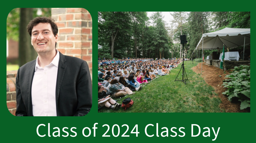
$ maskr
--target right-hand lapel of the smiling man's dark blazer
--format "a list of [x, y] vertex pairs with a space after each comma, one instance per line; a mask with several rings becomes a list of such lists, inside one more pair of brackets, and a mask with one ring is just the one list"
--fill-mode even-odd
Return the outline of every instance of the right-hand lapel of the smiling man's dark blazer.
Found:
[[59, 91], [60, 87], [64, 78], [64, 74], [67, 68], [67, 65], [65, 65], [66, 62], [65, 56], [59, 52], [59, 64], [58, 64], [58, 73], [57, 73], [57, 82], [56, 82], [56, 110], [57, 110], [57, 116], [58, 116], [58, 98], [59, 98]]

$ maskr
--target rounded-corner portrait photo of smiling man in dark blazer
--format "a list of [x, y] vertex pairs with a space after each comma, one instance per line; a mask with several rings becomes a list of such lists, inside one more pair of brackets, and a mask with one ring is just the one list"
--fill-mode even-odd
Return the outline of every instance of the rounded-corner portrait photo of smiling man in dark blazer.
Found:
[[7, 17], [7, 108], [84, 116], [92, 107], [92, 18], [84, 8], [14, 8]]

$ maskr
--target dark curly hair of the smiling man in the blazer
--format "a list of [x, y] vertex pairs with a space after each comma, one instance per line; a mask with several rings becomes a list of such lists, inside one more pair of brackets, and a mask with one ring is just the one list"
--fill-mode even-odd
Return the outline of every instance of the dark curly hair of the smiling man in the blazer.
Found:
[[[54, 23], [54, 19], [49, 18], [49, 17], [36, 17], [33, 20], [31, 20], [27, 25], [27, 32], [29, 33], [30, 37], [32, 36], [33, 27], [38, 25], [39, 23], [49, 23], [52, 27], [53, 35], [54, 36], [57, 35], [58, 26]], [[55, 47], [56, 47], [56, 44], [55, 44]]]

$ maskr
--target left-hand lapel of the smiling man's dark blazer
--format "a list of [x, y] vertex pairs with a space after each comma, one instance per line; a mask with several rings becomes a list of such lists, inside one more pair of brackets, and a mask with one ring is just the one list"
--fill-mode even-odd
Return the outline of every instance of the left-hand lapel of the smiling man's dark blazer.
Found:
[[27, 101], [28, 101], [28, 116], [33, 116], [33, 107], [32, 107], [32, 82], [35, 74], [35, 62], [31, 64], [31, 68], [27, 70]]

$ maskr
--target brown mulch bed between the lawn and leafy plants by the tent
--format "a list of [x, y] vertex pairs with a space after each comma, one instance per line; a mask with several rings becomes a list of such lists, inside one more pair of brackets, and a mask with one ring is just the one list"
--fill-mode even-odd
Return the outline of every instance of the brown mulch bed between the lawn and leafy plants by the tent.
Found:
[[[197, 66], [193, 67], [193, 71], [197, 74], [201, 74], [201, 66], [202, 63], [199, 63], [199, 69], [198, 64]], [[232, 101], [230, 102], [227, 98], [227, 96], [223, 95], [222, 92], [225, 92], [227, 88], [223, 88], [223, 80], [227, 79], [225, 76], [229, 74], [231, 70], [227, 70], [226, 74], [224, 74], [222, 69], [216, 68], [214, 66], [208, 66], [205, 63], [203, 63], [203, 74], [202, 77], [204, 78], [205, 82], [208, 85], [211, 85], [215, 92], [218, 94], [219, 98], [221, 99], [222, 103], [220, 104], [221, 109], [225, 109], [225, 112], [250, 112], [249, 108], [240, 110], [240, 101]], [[219, 76], [221, 75], [221, 77]]]

